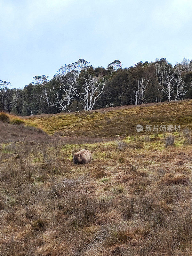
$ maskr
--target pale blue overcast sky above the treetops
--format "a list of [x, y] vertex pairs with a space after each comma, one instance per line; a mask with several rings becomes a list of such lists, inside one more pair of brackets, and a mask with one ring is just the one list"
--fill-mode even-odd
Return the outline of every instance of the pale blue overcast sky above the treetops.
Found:
[[24, 87], [82, 58], [192, 59], [192, 0], [0, 0], [0, 80]]

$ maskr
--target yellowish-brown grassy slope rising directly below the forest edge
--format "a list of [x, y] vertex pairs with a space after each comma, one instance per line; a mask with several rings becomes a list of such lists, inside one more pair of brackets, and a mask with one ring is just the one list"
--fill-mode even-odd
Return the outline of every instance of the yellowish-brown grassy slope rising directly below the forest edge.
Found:
[[130, 135], [136, 132], [136, 125], [172, 124], [192, 128], [192, 100], [156, 105], [140, 105], [93, 111], [91, 113], [72, 113], [42, 115], [25, 118], [42, 128], [48, 134], [61, 132], [64, 136], [84, 135], [111, 137]]

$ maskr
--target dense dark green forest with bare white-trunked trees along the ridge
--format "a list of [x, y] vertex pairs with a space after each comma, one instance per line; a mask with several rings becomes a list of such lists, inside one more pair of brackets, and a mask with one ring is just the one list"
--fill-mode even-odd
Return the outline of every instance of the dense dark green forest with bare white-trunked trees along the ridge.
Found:
[[79, 59], [61, 67], [51, 80], [34, 76], [23, 89], [0, 80], [0, 110], [20, 116], [186, 98], [192, 98], [192, 60], [186, 58], [175, 67], [162, 58], [124, 69], [119, 60], [93, 68]]

